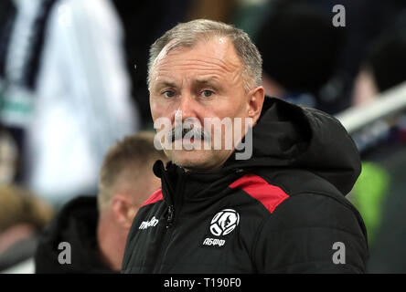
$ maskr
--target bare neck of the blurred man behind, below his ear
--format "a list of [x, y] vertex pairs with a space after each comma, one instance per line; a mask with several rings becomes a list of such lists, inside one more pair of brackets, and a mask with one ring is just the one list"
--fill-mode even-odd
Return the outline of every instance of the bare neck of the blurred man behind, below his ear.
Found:
[[102, 261], [114, 271], [120, 271], [123, 263], [125, 239], [121, 226], [114, 225], [109, 214], [101, 214], [97, 226], [97, 241]]

